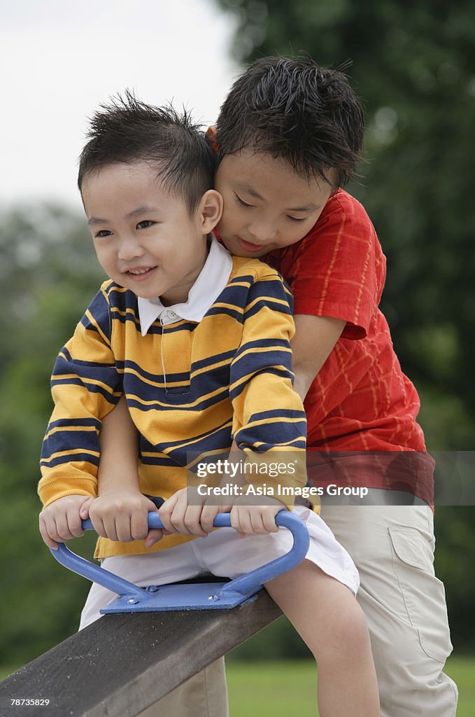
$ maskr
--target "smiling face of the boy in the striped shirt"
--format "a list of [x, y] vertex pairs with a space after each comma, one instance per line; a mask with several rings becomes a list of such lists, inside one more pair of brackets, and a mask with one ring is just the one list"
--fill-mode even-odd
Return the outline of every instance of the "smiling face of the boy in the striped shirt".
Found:
[[156, 168], [110, 164], [82, 182], [82, 201], [106, 274], [137, 296], [181, 303], [206, 261], [198, 212], [169, 194]]

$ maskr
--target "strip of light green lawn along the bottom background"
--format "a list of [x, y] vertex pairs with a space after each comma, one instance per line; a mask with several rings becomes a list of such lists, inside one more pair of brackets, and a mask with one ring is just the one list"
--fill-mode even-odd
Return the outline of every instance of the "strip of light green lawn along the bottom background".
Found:
[[[15, 668], [0, 665], [0, 679]], [[475, 714], [475, 656], [450, 657], [446, 673], [459, 687], [457, 717]], [[310, 660], [229, 660], [231, 717], [315, 717], [315, 669]], [[47, 717], [46, 713], [44, 717]]]

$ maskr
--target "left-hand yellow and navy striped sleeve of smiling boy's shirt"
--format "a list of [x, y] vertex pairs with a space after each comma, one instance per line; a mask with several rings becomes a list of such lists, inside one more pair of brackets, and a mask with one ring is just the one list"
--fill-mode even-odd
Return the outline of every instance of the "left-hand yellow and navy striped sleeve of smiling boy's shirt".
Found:
[[102, 285], [54, 365], [54, 411], [44, 437], [38, 487], [44, 505], [64, 495], [96, 494], [102, 418], [122, 392], [111, 348], [108, 285]]

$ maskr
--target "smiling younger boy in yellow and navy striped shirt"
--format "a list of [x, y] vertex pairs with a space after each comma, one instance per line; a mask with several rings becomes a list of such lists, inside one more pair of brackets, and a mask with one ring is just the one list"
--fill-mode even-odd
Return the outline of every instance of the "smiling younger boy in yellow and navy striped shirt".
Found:
[[[211, 531], [219, 506], [188, 501], [188, 452], [228, 452], [234, 437], [266, 465], [276, 451], [298, 458], [305, 447], [302, 402], [292, 389], [289, 292], [275, 270], [232, 259], [209, 238], [222, 209], [213, 170], [213, 153], [188, 118], [130, 96], [95, 115], [80, 159], [82, 201], [110, 281], [54, 369], [40, 528], [52, 547], [82, 533], [80, 515], [97, 493], [101, 422], [124, 394], [140, 434], [140, 493], [165, 498], [159, 512], [171, 534], [150, 552], [143, 541], [102, 538], [98, 556], [138, 584], [203, 568], [236, 576], [287, 544], [274, 522], [283, 504], [252, 505], [245, 493], [229, 506], [244, 540], [231, 528]], [[272, 483], [272, 473], [265, 478]], [[287, 484], [302, 482], [297, 475]], [[112, 505], [121, 490], [117, 479]], [[107, 503], [107, 491], [99, 500]], [[153, 508], [144, 495], [139, 500]], [[369, 636], [354, 599], [358, 573], [319, 516], [298, 505], [294, 511], [307, 524], [310, 549], [266, 587], [315, 654], [322, 716], [376, 716]], [[100, 617], [110, 597], [92, 586], [82, 626]]]

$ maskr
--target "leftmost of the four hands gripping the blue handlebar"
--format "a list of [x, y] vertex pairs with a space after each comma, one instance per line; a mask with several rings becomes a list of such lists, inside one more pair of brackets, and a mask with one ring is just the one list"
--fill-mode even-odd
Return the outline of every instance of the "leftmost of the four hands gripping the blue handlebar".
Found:
[[87, 518], [94, 498], [90, 495], [65, 495], [39, 513], [39, 532], [49, 548], [84, 535], [81, 520]]

